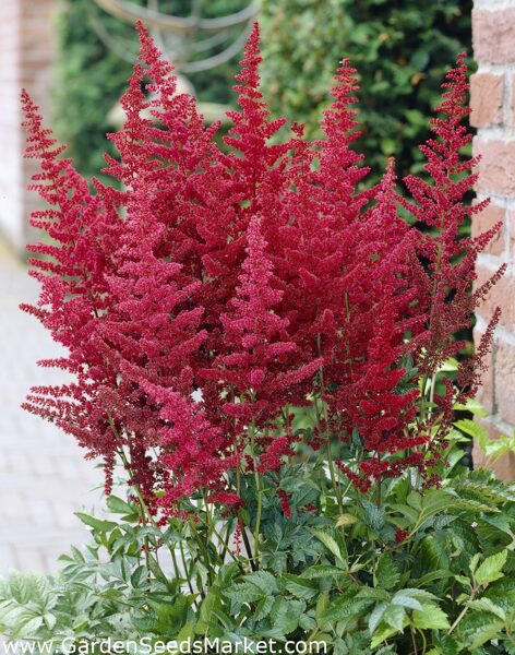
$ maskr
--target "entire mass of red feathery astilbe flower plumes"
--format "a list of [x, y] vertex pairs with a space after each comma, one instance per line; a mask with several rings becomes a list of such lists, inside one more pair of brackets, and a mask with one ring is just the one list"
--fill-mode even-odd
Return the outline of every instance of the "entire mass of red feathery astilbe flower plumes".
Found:
[[[91, 191], [23, 94], [27, 156], [41, 167], [34, 188], [50, 206], [32, 218], [50, 239], [31, 248], [41, 293], [24, 309], [69, 352], [41, 365], [74, 376], [34, 388], [26, 408], [103, 457], [108, 486], [121, 461], [153, 511], [175, 512], [199, 491], [239, 507], [231, 472], [277, 472], [298, 441], [291, 412], [306, 405], [316, 445], [338, 434], [358, 449], [357, 466], [338, 467], [362, 490], [406, 466], [423, 474], [438, 439], [436, 412], [419, 412], [421, 390], [460, 349], [456, 332], [502, 274], [470, 293], [477, 253], [498, 228], [459, 236], [484, 206], [464, 202], [476, 162], [459, 155], [470, 139], [463, 58], [422, 146], [432, 182], [408, 177], [411, 202], [396, 193], [393, 162], [381, 184], [362, 189], [347, 61], [325, 139], [308, 142], [294, 124], [271, 143], [286, 119], [270, 118], [259, 91], [255, 25], [220, 148], [218, 126], [206, 128], [194, 99], [177, 94], [172, 67], [139, 29], [127, 120], [109, 135], [120, 157], [106, 157], [121, 189], [94, 180]], [[431, 229], [410, 226], [399, 203]], [[463, 365], [459, 390], [447, 382], [434, 396], [439, 438], [453, 402], [477, 386], [498, 319]], [[285, 492], [279, 502], [289, 515]]]

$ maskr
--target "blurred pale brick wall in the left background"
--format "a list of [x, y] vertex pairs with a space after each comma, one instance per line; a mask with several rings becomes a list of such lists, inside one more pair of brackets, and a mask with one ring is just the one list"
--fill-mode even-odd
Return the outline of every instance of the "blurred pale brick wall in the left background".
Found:
[[25, 191], [32, 165], [22, 158], [20, 91], [48, 114], [52, 8], [53, 0], [0, 0], [0, 231], [21, 252], [36, 199]]

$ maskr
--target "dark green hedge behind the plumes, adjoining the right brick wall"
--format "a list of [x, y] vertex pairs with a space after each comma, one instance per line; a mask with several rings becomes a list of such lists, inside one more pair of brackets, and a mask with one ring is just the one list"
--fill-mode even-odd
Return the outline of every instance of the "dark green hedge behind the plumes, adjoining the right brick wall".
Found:
[[261, 0], [263, 84], [274, 114], [316, 131], [338, 62], [361, 79], [358, 152], [378, 176], [395, 155], [420, 170], [418, 144], [448, 61], [470, 50], [471, 0]]

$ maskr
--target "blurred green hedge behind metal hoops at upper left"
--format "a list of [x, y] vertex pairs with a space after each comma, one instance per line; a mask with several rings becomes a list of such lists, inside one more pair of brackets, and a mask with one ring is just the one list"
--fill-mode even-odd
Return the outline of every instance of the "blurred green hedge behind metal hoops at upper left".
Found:
[[[143, 0], [132, 0], [145, 4]], [[205, 3], [204, 15], [216, 17], [238, 11], [244, 0], [214, 0]], [[189, 13], [191, 2], [167, 0], [163, 11]], [[132, 63], [121, 59], [99, 38], [94, 21], [127, 49], [135, 60], [137, 35], [131, 25], [99, 10], [92, 0], [61, 0], [56, 19], [57, 66], [52, 90], [53, 124], [60, 141], [69, 145], [79, 170], [92, 176], [104, 166], [105, 134], [115, 130], [108, 115], [131, 75]], [[207, 52], [206, 55], [212, 55]], [[204, 102], [231, 103], [237, 62], [233, 57], [211, 71], [188, 75], [197, 97]], [[111, 154], [113, 154], [111, 152]]]

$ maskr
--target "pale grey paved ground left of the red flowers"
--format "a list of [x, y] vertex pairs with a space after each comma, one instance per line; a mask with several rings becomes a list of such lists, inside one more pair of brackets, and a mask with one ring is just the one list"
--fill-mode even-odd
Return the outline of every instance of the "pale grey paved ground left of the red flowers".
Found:
[[0, 575], [9, 569], [51, 572], [56, 558], [87, 532], [73, 515], [98, 505], [101, 473], [71, 437], [21, 409], [31, 384], [62, 374], [36, 360], [59, 348], [36, 319], [17, 309], [37, 285], [0, 243]]

